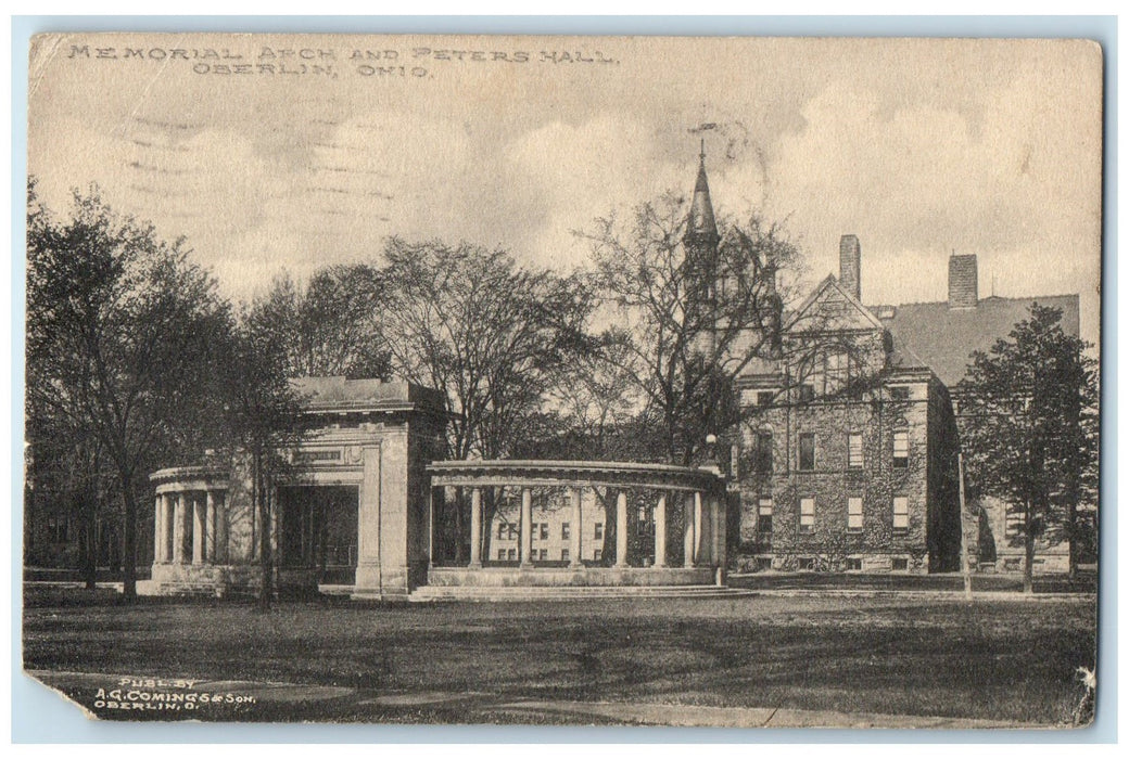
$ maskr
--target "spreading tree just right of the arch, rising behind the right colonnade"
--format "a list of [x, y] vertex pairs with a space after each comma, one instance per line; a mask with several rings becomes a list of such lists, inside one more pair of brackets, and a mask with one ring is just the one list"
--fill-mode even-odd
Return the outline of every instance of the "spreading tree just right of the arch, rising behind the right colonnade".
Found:
[[[581, 276], [522, 268], [504, 250], [439, 240], [385, 247], [383, 332], [401, 377], [447, 398], [447, 457], [502, 458], [520, 450], [562, 367], [588, 348], [592, 288]], [[446, 509], [446, 505], [440, 505]], [[483, 504], [490, 523], [496, 504]], [[439, 520], [443, 550], [461, 561], [465, 509]], [[452, 545], [454, 544], [452, 551]]]

